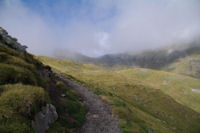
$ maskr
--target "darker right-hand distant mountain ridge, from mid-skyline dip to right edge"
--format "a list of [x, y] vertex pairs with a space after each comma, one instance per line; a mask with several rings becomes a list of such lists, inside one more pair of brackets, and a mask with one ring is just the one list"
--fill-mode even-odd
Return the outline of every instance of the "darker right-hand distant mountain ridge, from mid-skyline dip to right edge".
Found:
[[[182, 47], [182, 48], [181, 48]], [[108, 66], [137, 66], [152, 69], [161, 69], [181, 57], [200, 53], [200, 43], [187, 46], [176, 46], [159, 50], [148, 50], [139, 54], [110, 54], [97, 58], [98, 63]]]

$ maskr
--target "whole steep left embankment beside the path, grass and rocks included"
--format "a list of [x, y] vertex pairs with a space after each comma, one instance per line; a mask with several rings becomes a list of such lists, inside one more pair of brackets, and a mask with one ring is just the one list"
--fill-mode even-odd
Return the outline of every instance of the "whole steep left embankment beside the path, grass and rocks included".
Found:
[[0, 28], [0, 132], [67, 133], [85, 109], [77, 94]]

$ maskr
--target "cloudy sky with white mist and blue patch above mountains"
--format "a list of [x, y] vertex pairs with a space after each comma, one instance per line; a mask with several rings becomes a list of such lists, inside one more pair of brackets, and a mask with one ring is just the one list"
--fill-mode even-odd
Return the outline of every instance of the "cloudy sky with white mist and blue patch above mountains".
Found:
[[36, 55], [138, 52], [200, 38], [200, 1], [0, 0], [0, 27]]

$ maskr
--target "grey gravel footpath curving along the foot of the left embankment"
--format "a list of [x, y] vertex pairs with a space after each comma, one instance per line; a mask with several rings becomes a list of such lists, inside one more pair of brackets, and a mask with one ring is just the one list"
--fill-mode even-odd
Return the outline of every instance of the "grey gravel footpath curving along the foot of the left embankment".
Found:
[[63, 82], [73, 88], [83, 100], [87, 114], [81, 133], [121, 133], [118, 119], [112, 114], [111, 106], [100, 97], [73, 81], [59, 76]]

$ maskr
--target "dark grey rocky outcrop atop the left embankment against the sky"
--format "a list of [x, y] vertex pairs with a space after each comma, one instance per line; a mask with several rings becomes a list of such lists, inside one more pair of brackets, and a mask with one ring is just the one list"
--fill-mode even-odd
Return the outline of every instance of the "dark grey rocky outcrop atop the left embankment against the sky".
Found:
[[10, 35], [8, 35], [8, 32], [1, 27], [0, 27], [0, 46], [10, 47], [20, 53], [26, 52], [27, 48], [27, 46], [18, 43], [16, 38], [13, 38]]

